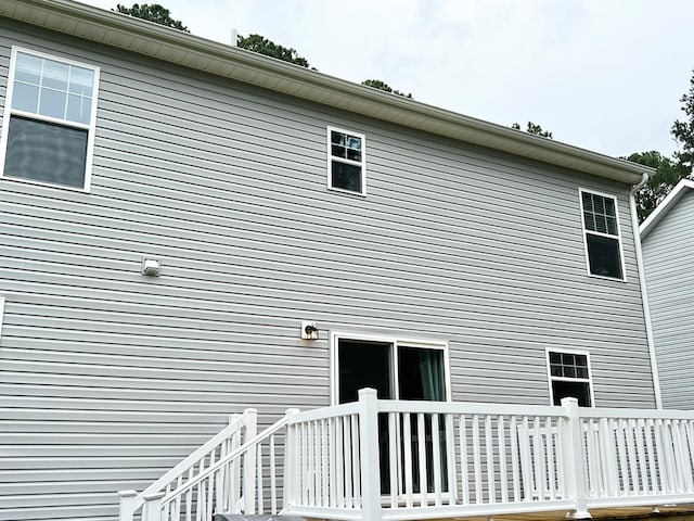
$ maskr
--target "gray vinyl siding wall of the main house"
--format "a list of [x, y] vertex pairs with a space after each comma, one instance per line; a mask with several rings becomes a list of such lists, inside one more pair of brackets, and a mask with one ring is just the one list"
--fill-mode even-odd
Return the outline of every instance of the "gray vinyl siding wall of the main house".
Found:
[[[448, 342], [455, 401], [547, 404], [545, 348], [587, 350], [597, 406], [654, 406], [627, 186], [0, 24], [0, 103], [12, 45], [101, 66], [91, 193], [0, 179], [0, 521], [113, 520], [230, 414], [329, 405], [330, 331]], [[587, 276], [579, 187], [627, 282]]]

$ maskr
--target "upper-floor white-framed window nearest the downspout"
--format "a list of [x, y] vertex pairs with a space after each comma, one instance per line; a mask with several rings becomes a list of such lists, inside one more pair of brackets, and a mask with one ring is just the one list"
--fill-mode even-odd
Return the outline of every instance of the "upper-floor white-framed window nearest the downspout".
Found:
[[588, 274], [626, 281], [617, 199], [579, 189]]

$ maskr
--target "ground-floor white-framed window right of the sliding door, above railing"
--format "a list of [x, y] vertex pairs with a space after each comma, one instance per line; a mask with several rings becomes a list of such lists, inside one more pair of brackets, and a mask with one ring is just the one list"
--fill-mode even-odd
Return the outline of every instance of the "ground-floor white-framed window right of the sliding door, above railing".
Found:
[[590, 353], [573, 350], [547, 350], [550, 381], [550, 404], [561, 405], [562, 398], [574, 397], [580, 407], [595, 403], [590, 370]]

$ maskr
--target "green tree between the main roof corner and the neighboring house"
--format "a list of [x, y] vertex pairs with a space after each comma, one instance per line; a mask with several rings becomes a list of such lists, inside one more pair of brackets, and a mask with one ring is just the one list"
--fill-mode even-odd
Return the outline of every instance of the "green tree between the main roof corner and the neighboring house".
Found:
[[670, 193], [672, 187], [680, 179], [686, 177], [687, 169], [678, 161], [664, 156], [652, 150], [651, 152], [637, 152], [629, 157], [622, 157], [641, 165], [656, 168], [656, 173], [648, 178], [648, 182], [637, 193], [637, 213], [639, 223], [643, 223], [651, 212]]

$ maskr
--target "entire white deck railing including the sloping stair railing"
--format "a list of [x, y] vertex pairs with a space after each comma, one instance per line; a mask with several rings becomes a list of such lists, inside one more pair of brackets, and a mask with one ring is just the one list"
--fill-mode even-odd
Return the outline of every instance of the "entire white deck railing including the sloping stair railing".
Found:
[[[140, 494], [120, 521], [284, 513], [388, 521], [694, 503], [694, 412], [359, 401], [248, 409]], [[283, 462], [280, 456], [284, 457]], [[282, 507], [280, 507], [280, 503]]]

